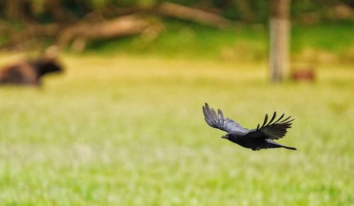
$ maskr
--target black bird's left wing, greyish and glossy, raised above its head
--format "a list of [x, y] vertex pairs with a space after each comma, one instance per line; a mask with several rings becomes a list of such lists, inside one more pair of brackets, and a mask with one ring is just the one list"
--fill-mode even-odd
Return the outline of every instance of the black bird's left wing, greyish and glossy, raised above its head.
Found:
[[214, 127], [225, 132], [249, 132], [248, 129], [242, 127], [237, 122], [234, 122], [234, 120], [224, 118], [222, 110], [217, 110], [217, 114], [213, 108], [210, 109], [207, 103], [205, 103], [205, 106], [202, 106], [202, 112], [205, 116], [205, 122], [207, 122], [210, 127]]

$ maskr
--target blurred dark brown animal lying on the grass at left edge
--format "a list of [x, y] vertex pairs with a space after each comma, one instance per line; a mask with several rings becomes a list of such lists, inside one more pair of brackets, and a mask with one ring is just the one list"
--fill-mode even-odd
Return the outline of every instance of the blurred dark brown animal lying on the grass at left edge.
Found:
[[0, 70], [0, 84], [40, 85], [42, 76], [62, 70], [55, 59], [47, 57], [17, 62]]

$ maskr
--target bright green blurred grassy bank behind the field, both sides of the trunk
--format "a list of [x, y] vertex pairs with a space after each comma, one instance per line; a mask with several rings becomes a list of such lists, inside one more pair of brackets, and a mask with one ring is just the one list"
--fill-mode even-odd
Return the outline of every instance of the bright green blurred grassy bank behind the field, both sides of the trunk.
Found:
[[[262, 24], [227, 30], [173, 20], [165, 25], [154, 40], [139, 36], [96, 40], [89, 44], [88, 52], [235, 62], [264, 62], [268, 57], [268, 30]], [[353, 62], [353, 21], [308, 26], [294, 23], [291, 33], [291, 54], [297, 62]]]

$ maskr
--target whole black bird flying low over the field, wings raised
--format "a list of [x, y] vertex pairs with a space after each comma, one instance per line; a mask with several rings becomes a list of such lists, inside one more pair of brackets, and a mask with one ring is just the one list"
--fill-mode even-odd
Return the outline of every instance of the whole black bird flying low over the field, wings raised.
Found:
[[224, 114], [220, 109], [217, 110], [217, 115], [215, 110], [213, 108], [210, 109], [207, 103], [205, 103], [205, 106], [202, 106], [202, 112], [204, 113], [205, 121], [210, 127], [227, 132], [222, 138], [229, 139], [229, 141], [239, 144], [242, 147], [252, 149], [253, 151], [279, 147], [296, 150], [294, 147], [286, 147], [272, 141], [285, 136], [287, 129], [291, 127], [291, 122], [294, 120], [289, 120], [291, 116], [283, 120], [284, 114], [282, 114], [278, 120], [273, 122], [277, 116], [277, 113], [274, 112], [269, 122], [268, 115], [265, 115], [261, 127], [258, 124], [256, 129], [249, 130], [242, 127], [237, 122], [234, 122], [234, 120], [224, 118]]

